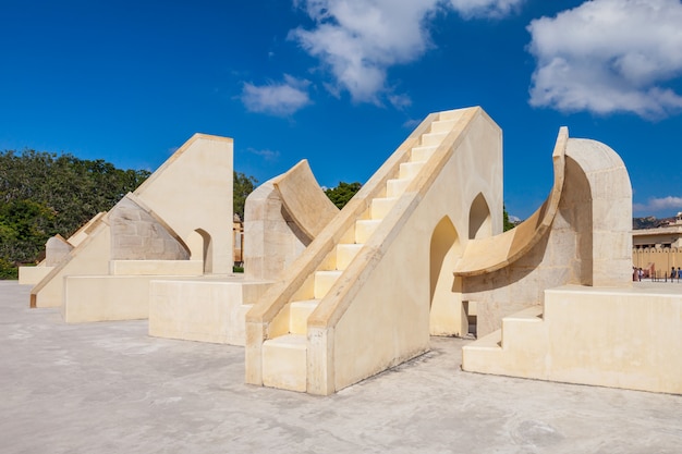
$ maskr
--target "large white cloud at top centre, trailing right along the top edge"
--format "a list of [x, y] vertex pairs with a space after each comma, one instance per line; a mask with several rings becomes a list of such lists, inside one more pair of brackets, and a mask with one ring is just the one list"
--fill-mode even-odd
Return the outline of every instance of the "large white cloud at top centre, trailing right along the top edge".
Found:
[[[412, 62], [431, 46], [427, 21], [439, 11], [463, 17], [499, 17], [525, 0], [294, 0], [315, 27], [291, 30], [310, 56], [329, 69], [330, 93], [350, 93], [353, 101], [381, 103], [390, 95], [387, 70]], [[404, 105], [404, 96], [399, 105]]]

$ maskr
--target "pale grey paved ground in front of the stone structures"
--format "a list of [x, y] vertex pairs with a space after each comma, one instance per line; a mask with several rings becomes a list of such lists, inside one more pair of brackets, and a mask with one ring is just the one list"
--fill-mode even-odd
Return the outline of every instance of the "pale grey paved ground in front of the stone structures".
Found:
[[462, 340], [316, 397], [243, 384], [241, 347], [65, 324], [28, 292], [0, 281], [2, 454], [682, 452], [682, 396], [462, 372]]

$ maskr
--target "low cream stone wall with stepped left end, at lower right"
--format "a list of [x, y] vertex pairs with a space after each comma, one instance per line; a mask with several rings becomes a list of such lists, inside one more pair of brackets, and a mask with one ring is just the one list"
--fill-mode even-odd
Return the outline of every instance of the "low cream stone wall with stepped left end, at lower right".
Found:
[[[682, 296], [660, 289], [563, 286], [544, 312], [504, 318], [503, 331], [463, 348], [467, 371], [682, 393]], [[537, 317], [543, 314], [543, 317]]]

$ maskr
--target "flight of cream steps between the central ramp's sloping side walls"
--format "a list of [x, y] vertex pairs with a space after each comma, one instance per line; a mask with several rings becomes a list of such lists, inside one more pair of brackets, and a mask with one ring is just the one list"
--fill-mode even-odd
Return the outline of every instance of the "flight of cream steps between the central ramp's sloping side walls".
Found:
[[385, 187], [369, 201], [368, 208], [340, 236], [336, 247], [280, 311], [277, 323], [283, 326], [280, 332], [287, 333], [267, 339], [263, 344], [264, 385], [306, 391], [308, 317], [324, 298], [333, 297], [333, 286], [344, 270], [455, 125], [459, 115], [451, 116], [448, 112], [441, 113], [430, 124], [428, 132], [421, 135], [417, 145], [410, 150], [409, 160], [400, 163], [397, 174], [386, 181]]

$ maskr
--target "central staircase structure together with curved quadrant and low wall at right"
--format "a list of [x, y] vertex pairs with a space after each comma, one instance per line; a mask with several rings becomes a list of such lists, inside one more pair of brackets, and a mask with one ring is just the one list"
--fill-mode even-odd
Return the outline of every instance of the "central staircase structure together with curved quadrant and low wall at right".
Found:
[[502, 233], [501, 156], [482, 109], [427, 116], [248, 311], [246, 382], [326, 395], [476, 332], [467, 371], [682, 393], [682, 298], [632, 289], [622, 160], [561, 128]]

